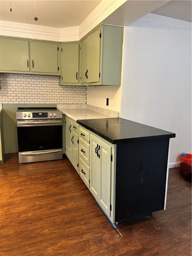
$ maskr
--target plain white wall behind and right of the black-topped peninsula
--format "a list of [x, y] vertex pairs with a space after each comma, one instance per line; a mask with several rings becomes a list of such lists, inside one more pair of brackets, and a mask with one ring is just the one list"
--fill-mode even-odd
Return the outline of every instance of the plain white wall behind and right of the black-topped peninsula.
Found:
[[191, 23], [154, 15], [125, 28], [121, 117], [175, 132], [175, 163], [191, 152]]

